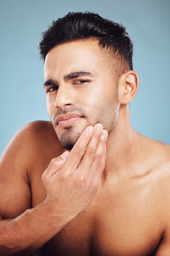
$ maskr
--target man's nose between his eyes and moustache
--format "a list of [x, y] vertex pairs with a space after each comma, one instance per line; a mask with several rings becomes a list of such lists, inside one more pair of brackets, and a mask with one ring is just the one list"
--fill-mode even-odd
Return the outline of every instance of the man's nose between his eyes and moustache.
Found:
[[63, 109], [65, 106], [74, 106], [75, 97], [70, 88], [59, 86], [54, 106]]

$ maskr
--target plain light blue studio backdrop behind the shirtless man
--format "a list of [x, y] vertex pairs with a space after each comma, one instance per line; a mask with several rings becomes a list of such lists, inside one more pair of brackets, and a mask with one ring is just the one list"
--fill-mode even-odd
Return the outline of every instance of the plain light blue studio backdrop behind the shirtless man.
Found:
[[126, 27], [139, 75], [131, 124], [170, 144], [170, 0], [0, 0], [0, 155], [21, 126], [49, 121], [37, 51], [41, 32], [69, 11], [86, 10]]

